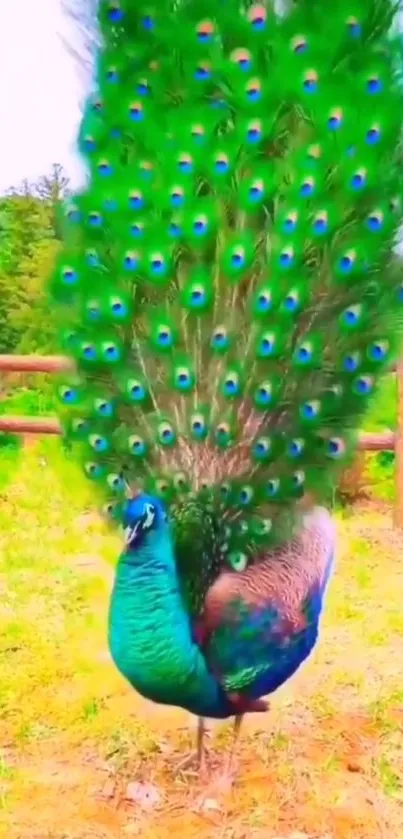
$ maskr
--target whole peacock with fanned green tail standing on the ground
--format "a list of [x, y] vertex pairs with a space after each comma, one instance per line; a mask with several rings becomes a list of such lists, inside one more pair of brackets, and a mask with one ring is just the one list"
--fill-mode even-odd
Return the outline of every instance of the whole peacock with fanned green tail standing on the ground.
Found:
[[65, 438], [123, 530], [148, 699], [264, 712], [315, 646], [327, 512], [400, 344], [399, 3], [99, 0], [50, 281]]

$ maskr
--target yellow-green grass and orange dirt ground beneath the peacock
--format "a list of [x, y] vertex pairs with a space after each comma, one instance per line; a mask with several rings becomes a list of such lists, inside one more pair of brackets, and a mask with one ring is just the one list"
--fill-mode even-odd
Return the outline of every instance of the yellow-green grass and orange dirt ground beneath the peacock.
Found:
[[[56, 440], [26, 449], [0, 506], [0, 835], [402, 835], [403, 540], [388, 511], [343, 515], [340, 533], [315, 656], [247, 721], [234, 796], [213, 788], [221, 809], [201, 814], [173, 769], [191, 721], [142, 701], [107, 654], [118, 539]], [[214, 730], [222, 752], [228, 726]], [[125, 802], [133, 780], [158, 787], [158, 812]]]

